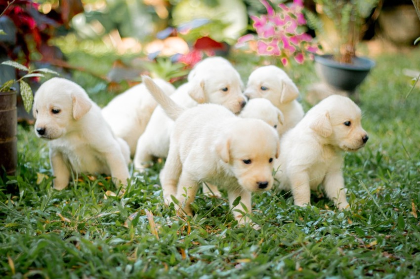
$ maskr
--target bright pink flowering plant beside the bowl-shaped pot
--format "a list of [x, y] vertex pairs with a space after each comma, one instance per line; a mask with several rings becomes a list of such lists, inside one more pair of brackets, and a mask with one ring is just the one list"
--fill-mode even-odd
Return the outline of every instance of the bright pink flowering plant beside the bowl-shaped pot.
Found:
[[267, 0], [260, 1], [267, 9], [267, 14], [251, 16], [256, 35], [240, 37], [236, 46], [248, 44], [259, 55], [279, 56], [284, 66], [291, 57], [299, 64], [308, 55], [312, 59], [313, 55], [310, 53], [316, 52], [318, 47], [312, 42], [312, 36], [304, 32], [306, 20], [302, 13], [303, 0], [294, 0], [290, 6], [280, 3], [278, 10]]

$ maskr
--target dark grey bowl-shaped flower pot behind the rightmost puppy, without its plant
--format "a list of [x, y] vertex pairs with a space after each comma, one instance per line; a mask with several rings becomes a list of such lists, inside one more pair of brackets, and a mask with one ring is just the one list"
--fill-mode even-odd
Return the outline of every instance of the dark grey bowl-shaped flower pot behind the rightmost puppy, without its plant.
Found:
[[335, 61], [332, 55], [315, 56], [315, 69], [322, 80], [338, 90], [354, 92], [375, 62], [365, 57], [353, 58], [353, 64]]

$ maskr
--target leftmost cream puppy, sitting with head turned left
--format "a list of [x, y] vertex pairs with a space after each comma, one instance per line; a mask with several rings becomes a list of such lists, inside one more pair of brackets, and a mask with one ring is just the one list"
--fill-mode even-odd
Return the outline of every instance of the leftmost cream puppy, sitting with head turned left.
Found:
[[33, 112], [36, 135], [48, 140], [55, 189], [67, 187], [71, 172], [110, 174], [127, 184], [128, 145], [114, 136], [82, 87], [51, 78], [35, 94]]

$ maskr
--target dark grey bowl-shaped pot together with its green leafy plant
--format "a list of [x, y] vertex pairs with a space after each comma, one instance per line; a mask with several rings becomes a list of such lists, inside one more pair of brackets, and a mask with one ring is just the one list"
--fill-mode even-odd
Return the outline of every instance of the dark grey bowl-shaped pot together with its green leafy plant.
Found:
[[[379, 0], [314, 0], [318, 15], [306, 14], [308, 25], [325, 41], [335, 42], [333, 53], [315, 56], [321, 78], [333, 88], [354, 92], [375, 62], [356, 56], [365, 32], [365, 21]], [[330, 24], [326, 24], [326, 19]]]

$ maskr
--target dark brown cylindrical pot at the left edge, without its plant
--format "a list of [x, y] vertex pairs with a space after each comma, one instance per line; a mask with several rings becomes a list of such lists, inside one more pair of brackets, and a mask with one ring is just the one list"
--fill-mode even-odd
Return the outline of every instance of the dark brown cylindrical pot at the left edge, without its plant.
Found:
[[17, 166], [16, 91], [0, 93], [0, 174], [13, 175]]

